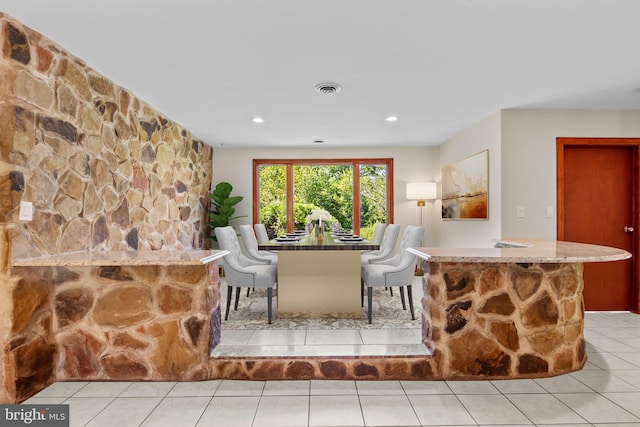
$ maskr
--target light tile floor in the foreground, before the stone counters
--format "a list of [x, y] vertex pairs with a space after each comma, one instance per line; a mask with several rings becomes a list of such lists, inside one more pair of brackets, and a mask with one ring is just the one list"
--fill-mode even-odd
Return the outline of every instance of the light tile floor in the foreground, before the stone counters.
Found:
[[71, 382], [25, 403], [94, 427], [640, 427], [640, 316], [587, 313], [585, 337], [583, 370], [537, 380]]

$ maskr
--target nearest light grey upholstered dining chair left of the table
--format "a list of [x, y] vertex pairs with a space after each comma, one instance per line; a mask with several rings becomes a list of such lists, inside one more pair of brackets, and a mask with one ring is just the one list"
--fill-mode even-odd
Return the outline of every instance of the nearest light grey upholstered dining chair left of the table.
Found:
[[267, 289], [267, 316], [271, 323], [273, 311], [273, 288], [276, 285], [278, 267], [271, 264], [258, 263], [242, 254], [238, 236], [233, 227], [216, 227], [214, 229], [220, 249], [229, 251], [224, 256], [224, 273], [227, 281], [227, 307], [224, 320], [229, 319], [231, 306], [231, 294], [236, 288], [234, 310], [238, 309], [240, 300], [240, 288], [266, 288]]

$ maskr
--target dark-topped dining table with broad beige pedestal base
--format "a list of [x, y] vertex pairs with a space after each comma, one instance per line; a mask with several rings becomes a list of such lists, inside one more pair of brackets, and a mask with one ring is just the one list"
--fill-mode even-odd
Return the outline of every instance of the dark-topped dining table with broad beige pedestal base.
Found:
[[299, 231], [260, 243], [278, 254], [278, 318], [360, 318], [361, 254], [379, 247], [346, 231]]

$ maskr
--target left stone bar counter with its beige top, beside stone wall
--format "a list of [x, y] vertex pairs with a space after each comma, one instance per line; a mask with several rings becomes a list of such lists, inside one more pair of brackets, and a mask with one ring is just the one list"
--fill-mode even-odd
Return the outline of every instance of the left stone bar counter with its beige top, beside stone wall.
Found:
[[12, 264], [16, 401], [54, 381], [209, 378], [219, 250], [76, 252]]

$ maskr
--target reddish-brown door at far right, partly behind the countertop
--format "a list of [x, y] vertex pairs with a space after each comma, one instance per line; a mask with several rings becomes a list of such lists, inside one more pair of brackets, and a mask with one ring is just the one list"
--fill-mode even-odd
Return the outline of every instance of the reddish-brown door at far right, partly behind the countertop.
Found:
[[[562, 153], [558, 147], [558, 238], [633, 253], [637, 148], [606, 141], [564, 144]], [[634, 265], [634, 259], [585, 263], [585, 309], [637, 310]]]

